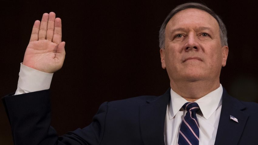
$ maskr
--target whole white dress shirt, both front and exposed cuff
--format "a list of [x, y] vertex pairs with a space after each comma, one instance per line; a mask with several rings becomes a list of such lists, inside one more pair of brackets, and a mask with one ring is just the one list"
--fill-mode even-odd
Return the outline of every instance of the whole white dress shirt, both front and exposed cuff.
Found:
[[[41, 72], [24, 66], [21, 63], [19, 80], [15, 95], [35, 92], [50, 88], [53, 73]], [[222, 85], [211, 93], [196, 100], [200, 111], [196, 113], [199, 122], [199, 145], [213, 145], [219, 124], [219, 116], [222, 104]], [[164, 126], [165, 145], [176, 145], [178, 132], [186, 111], [182, 106], [188, 102], [172, 89], [171, 101], [168, 103]]]

